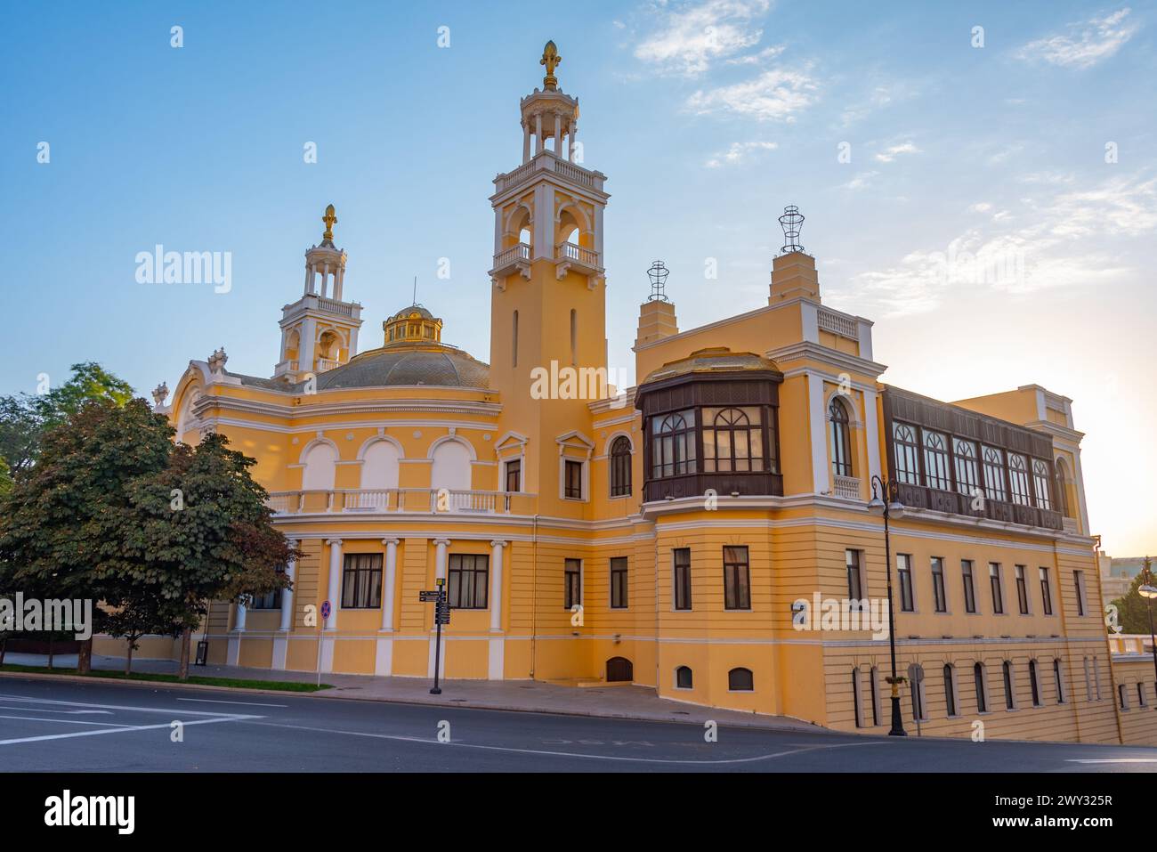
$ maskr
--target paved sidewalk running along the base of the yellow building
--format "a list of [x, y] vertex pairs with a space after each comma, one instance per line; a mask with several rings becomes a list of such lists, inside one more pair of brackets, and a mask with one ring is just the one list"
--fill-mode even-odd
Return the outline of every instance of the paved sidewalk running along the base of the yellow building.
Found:
[[[45, 654], [8, 654], [6, 663], [19, 666], [47, 666]], [[57, 654], [53, 667], [76, 667], [75, 654]], [[124, 658], [93, 655], [94, 669], [123, 671]], [[133, 660], [133, 671], [176, 674], [171, 660]], [[12, 674], [12, 673], [7, 673]], [[239, 666], [193, 666], [191, 675], [205, 677], [237, 677], [252, 681], [316, 682], [312, 671], [273, 671]], [[47, 676], [47, 675], [45, 675]], [[322, 683], [333, 689], [320, 692], [287, 692], [287, 696], [309, 698], [339, 698], [370, 702], [400, 702], [432, 704], [447, 707], [479, 710], [510, 710], [528, 713], [559, 713], [563, 715], [604, 717], [609, 719], [642, 719], [648, 721], [693, 722], [702, 725], [714, 720], [723, 726], [751, 727], [775, 730], [820, 732], [818, 725], [775, 715], [757, 715], [732, 710], [700, 707], [658, 698], [647, 686], [560, 686], [541, 681], [442, 681], [442, 695], [429, 693], [430, 681], [422, 677], [374, 677], [371, 675], [323, 674]], [[168, 688], [170, 684], [157, 684]]]

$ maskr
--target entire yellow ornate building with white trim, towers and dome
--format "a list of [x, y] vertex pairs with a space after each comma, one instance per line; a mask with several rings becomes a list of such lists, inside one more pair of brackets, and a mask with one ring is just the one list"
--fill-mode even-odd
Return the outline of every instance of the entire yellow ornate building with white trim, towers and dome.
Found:
[[[209, 659], [429, 677], [419, 592], [444, 579], [445, 677], [633, 682], [883, 733], [886, 637], [820, 617], [828, 601], [847, 616], [843, 602], [885, 598], [868, 505], [883, 477], [906, 507], [891, 523], [906, 725], [1120, 742], [1070, 401], [1030, 385], [948, 404], [887, 385], [872, 323], [821, 302], [795, 238], [767, 304], [737, 316], [680, 330], [656, 287], [639, 384], [609, 387], [606, 177], [569, 155], [578, 102], [553, 44], [543, 64], [521, 161], [489, 199], [488, 363], [418, 304], [359, 351], [331, 206], [272, 377], [226, 370], [218, 352], [190, 362], [171, 405], [159, 398], [179, 440], [218, 431], [257, 460], [304, 553], [292, 592], [213, 609]], [[142, 654], [171, 653], [148, 641]], [[1138, 678], [1157, 706], [1152, 673]], [[1157, 741], [1157, 715], [1134, 727]]]

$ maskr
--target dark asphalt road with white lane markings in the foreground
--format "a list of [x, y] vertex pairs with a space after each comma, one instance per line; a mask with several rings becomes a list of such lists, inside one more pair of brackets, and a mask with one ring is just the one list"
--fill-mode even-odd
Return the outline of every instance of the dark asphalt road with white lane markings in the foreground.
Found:
[[698, 725], [3, 677], [0, 770], [1154, 772], [1157, 749], [727, 727], [706, 742]]

